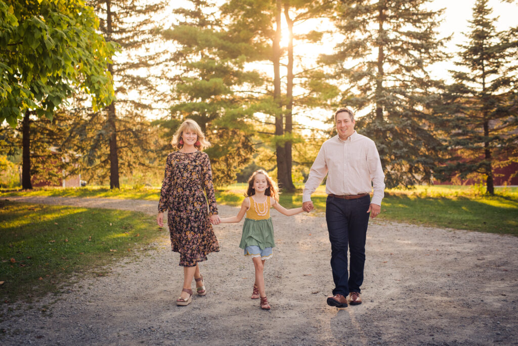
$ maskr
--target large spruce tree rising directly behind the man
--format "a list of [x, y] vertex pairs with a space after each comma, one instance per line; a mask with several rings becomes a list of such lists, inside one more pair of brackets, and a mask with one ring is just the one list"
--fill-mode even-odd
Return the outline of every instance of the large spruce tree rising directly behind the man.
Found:
[[342, 104], [366, 114], [356, 128], [376, 142], [389, 188], [429, 182], [441, 147], [430, 114], [441, 83], [427, 67], [445, 58], [436, 32], [442, 11], [427, 3], [342, 1], [335, 24], [344, 39], [322, 57], [347, 85]]

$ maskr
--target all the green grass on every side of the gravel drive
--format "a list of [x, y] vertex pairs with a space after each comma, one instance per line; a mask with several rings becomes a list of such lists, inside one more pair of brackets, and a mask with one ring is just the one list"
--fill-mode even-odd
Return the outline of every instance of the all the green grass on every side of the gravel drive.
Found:
[[[300, 188], [300, 186], [299, 186]], [[239, 206], [245, 184], [219, 189], [219, 204]], [[108, 197], [157, 200], [160, 189], [40, 189], [11, 195]], [[312, 195], [316, 215], [325, 211], [325, 188]], [[299, 207], [301, 189], [284, 193], [280, 203]], [[230, 216], [230, 215], [222, 215]], [[497, 189], [486, 196], [477, 186], [419, 186], [387, 190], [381, 220], [518, 236], [518, 189]], [[0, 297], [30, 301], [59, 293], [74, 275], [104, 275], [113, 259], [135, 254], [164, 232], [142, 213], [13, 203], [0, 200]]]

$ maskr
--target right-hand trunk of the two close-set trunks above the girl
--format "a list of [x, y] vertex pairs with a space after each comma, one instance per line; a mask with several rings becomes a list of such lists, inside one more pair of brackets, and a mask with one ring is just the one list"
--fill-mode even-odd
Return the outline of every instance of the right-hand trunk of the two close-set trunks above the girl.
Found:
[[[293, 21], [290, 19], [290, 5], [284, 4], [284, 17], [288, 24], [290, 40], [288, 41], [288, 65], [287, 65], [287, 86], [286, 86], [286, 122], [284, 124], [284, 134], [291, 135], [293, 131]], [[284, 154], [286, 156], [286, 172], [287, 177], [284, 182], [284, 190], [287, 192], [295, 191], [295, 185], [292, 179], [292, 141], [287, 140], [284, 143]]]

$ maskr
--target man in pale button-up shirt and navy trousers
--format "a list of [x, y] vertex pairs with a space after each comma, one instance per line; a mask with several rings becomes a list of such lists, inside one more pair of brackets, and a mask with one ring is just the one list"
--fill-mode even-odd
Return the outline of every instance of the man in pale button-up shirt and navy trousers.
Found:
[[[326, 222], [331, 242], [331, 268], [335, 289], [327, 304], [339, 308], [362, 304], [360, 286], [365, 265], [365, 238], [369, 214], [381, 211], [385, 175], [375, 143], [354, 131], [354, 113], [347, 108], [335, 112], [338, 135], [320, 148], [303, 191], [303, 209], [311, 211], [311, 194], [326, 180]], [[372, 184], [371, 184], [372, 182]], [[370, 192], [374, 190], [372, 200]], [[347, 248], [350, 270], [347, 270]]]

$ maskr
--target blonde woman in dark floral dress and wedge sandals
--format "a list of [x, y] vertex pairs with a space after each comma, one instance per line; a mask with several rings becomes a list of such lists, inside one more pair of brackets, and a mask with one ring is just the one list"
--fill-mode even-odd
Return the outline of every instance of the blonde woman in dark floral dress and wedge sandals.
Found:
[[206, 261], [208, 253], [220, 251], [211, 225], [219, 224], [220, 217], [209, 156], [202, 151], [210, 143], [202, 129], [195, 121], [187, 119], [177, 129], [171, 144], [179, 150], [167, 156], [156, 222], [160, 227], [164, 226], [164, 211], [167, 210], [171, 248], [180, 253], [179, 265], [183, 266], [183, 290], [176, 304], [186, 306], [192, 301], [193, 278], [197, 294], [204, 296], [207, 293], [198, 262]]

